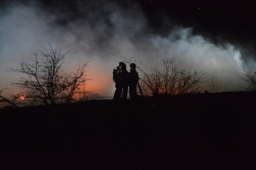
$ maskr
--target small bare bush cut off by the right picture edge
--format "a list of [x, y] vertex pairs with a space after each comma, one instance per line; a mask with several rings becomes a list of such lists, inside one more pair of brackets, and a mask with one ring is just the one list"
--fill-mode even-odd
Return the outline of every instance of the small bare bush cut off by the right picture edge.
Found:
[[256, 68], [246, 68], [245, 64], [242, 66], [242, 80], [244, 84], [240, 86], [245, 91], [255, 91], [256, 90]]

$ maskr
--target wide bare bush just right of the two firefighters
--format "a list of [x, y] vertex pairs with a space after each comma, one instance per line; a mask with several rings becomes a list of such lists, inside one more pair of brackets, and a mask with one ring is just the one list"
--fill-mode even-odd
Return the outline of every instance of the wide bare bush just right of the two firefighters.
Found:
[[[125, 63], [131, 63], [131, 59], [121, 58]], [[175, 57], [166, 57], [161, 60], [160, 68], [152, 68], [150, 73], [144, 72], [137, 66], [140, 72], [142, 88], [147, 96], [158, 94], [182, 95], [201, 91], [200, 84], [205, 82], [208, 71], [192, 71], [190, 68], [183, 68], [180, 61]]]

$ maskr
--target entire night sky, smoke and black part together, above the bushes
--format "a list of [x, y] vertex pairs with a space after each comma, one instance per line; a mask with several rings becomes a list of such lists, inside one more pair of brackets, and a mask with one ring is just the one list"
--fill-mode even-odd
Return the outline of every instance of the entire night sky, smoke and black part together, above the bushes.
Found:
[[112, 69], [134, 57], [144, 70], [156, 59], [210, 70], [225, 91], [238, 90], [240, 64], [255, 66], [256, 2], [203, 0], [0, 1], [0, 88], [20, 75], [7, 72], [35, 50], [72, 49], [68, 62], [90, 62], [89, 89], [112, 96]]

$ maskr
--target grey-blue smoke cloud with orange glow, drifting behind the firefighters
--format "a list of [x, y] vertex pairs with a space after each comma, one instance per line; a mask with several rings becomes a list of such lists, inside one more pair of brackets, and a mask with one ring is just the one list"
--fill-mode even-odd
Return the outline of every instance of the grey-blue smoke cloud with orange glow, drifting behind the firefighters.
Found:
[[[99, 4], [100, 3], [100, 4]], [[35, 50], [48, 49], [47, 41], [62, 51], [72, 49], [68, 66], [90, 62], [88, 72], [93, 80], [86, 90], [99, 90], [101, 96], [113, 96], [112, 69], [120, 57], [134, 57], [140, 67], [150, 71], [157, 59], [177, 57], [184, 67], [210, 70], [218, 76], [225, 91], [237, 90], [240, 64], [248, 50], [231, 43], [212, 43], [207, 37], [193, 33], [192, 27], [174, 26], [158, 34], [148, 26], [139, 4], [122, 6], [106, 0], [73, 4], [76, 11], [65, 6], [44, 6], [39, 2], [12, 3], [0, 13], [0, 88], [21, 75], [7, 72], [32, 57]], [[168, 20], [168, 22], [171, 22]], [[175, 23], [172, 23], [175, 25]], [[160, 62], [158, 61], [158, 64]], [[70, 68], [72, 69], [72, 68]]]

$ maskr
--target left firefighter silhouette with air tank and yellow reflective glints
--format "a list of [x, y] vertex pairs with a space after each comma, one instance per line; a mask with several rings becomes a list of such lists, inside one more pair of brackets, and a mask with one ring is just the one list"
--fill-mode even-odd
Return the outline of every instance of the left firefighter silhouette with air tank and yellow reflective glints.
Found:
[[119, 63], [119, 66], [113, 70], [113, 79], [116, 83], [116, 91], [114, 94], [114, 100], [126, 100], [129, 85], [130, 73], [126, 69], [126, 64], [123, 62]]

